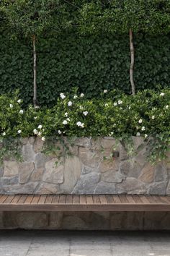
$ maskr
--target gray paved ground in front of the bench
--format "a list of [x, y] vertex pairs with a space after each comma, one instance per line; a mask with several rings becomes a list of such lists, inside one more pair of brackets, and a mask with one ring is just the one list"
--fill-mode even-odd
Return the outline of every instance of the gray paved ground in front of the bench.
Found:
[[0, 231], [0, 256], [170, 256], [170, 233]]

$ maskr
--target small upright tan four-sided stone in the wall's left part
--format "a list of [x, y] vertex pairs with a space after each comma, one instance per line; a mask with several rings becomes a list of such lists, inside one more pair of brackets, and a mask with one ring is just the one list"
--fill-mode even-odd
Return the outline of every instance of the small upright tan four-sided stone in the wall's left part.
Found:
[[33, 162], [23, 162], [19, 164], [19, 183], [27, 183], [35, 165]]

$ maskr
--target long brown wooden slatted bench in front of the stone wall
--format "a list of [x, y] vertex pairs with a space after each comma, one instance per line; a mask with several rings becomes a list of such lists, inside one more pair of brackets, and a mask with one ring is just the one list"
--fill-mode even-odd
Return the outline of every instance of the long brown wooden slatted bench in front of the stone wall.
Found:
[[0, 211], [170, 211], [170, 196], [0, 195]]

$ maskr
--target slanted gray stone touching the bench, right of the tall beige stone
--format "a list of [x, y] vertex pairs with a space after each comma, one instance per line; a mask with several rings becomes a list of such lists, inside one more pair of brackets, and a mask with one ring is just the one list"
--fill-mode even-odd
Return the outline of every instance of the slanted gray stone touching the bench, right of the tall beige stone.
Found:
[[99, 182], [100, 174], [97, 173], [90, 173], [82, 175], [77, 182], [76, 186], [73, 189], [71, 194], [93, 194], [94, 189]]

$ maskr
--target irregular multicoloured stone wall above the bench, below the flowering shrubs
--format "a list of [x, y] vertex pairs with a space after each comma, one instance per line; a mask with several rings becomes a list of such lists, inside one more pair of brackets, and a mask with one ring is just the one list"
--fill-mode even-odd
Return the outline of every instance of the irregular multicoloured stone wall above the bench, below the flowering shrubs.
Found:
[[[136, 149], [143, 143], [140, 137], [133, 140]], [[40, 138], [25, 138], [23, 161], [4, 160], [0, 193], [170, 195], [170, 164], [151, 166], [146, 148], [129, 159], [122, 144], [116, 145], [111, 137], [79, 138], [69, 145], [72, 155], [58, 159], [44, 155], [42, 145]]]

